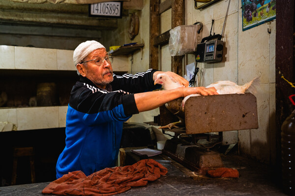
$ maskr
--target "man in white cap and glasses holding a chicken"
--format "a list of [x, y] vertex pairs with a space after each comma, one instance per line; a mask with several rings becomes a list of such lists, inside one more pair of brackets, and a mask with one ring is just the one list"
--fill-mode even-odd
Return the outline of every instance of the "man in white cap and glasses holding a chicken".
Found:
[[[122, 136], [123, 122], [133, 114], [155, 109], [190, 94], [214, 95], [214, 88], [177, 88], [152, 91], [157, 70], [135, 75], [113, 74], [112, 57], [96, 41], [80, 44], [73, 54], [80, 81], [73, 86], [67, 115], [65, 148], [57, 162], [57, 178], [73, 171], [86, 175], [114, 167]], [[166, 72], [181, 84], [188, 81]]]

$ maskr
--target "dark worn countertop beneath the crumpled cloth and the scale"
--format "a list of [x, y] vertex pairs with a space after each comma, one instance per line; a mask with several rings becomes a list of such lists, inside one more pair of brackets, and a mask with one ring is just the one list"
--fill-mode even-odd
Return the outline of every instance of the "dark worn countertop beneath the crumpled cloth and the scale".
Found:
[[[147, 186], [131, 188], [118, 196], [286, 196], [279, 187], [276, 170], [236, 154], [221, 158], [224, 167], [238, 170], [237, 179], [198, 176], [166, 155], [153, 158], [170, 161], [161, 162], [168, 173]], [[41, 192], [49, 183], [0, 187], [0, 196], [46, 196]]]

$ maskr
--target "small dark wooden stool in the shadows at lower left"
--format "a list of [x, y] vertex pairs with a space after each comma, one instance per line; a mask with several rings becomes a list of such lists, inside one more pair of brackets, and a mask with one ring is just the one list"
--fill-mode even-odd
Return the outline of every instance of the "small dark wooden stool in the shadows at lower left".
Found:
[[34, 148], [33, 147], [14, 147], [13, 148], [13, 169], [11, 185], [16, 182], [17, 159], [21, 156], [29, 156], [31, 182], [35, 183]]

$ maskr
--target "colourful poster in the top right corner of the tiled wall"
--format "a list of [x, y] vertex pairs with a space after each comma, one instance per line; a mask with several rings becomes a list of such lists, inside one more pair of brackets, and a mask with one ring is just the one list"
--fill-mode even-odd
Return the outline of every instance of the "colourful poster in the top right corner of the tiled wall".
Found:
[[272, 21], [276, 16], [276, 0], [241, 0], [243, 31]]

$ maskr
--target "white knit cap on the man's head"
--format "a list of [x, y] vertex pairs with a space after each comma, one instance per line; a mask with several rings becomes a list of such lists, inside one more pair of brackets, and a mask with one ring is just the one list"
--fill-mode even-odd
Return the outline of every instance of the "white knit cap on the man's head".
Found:
[[102, 44], [94, 40], [81, 43], [75, 49], [73, 54], [73, 60], [74, 60], [75, 66], [78, 63], [80, 63], [90, 52], [92, 52], [95, 49], [101, 49], [101, 48], [106, 49]]

